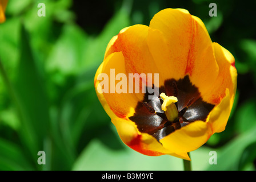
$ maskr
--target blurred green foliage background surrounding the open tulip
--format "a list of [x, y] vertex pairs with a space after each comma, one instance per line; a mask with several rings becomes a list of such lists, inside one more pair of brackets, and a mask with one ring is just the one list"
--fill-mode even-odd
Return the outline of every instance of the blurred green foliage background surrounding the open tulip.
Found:
[[[39, 17], [38, 3], [46, 16]], [[217, 3], [217, 17], [209, 4]], [[0, 24], [1, 170], [182, 170], [182, 159], [126, 147], [95, 94], [109, 40], [159, 10], [184, 8], [235, 57], [238, 88], [226, 130], [191, 152], [194, 170], [256, 167], [256, 1], [9, 0]], [[39, 165], [38, 151], [46, 164]], [[209, 164], [217, 151], [217, 164]]]

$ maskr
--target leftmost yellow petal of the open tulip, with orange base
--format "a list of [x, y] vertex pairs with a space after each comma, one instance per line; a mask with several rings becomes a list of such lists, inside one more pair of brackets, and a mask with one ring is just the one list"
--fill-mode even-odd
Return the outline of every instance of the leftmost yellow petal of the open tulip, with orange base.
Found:
[[[110, 118], [125, 118], [127, 115], [132, 115], [133, 113], [129, 113], [131, 109], [135, 108], [137, 105], [138, 95], [140, 94], [142, 95], [141, 97], [143, 97], [142, 93], [129, 93], [128, 81], [126, 81], [126, 84], [123, 84], [123, 88], [125, 88], [124, 90], [126, 90], [126, 93], [117, 93], [117, 84], [122, 80], [115, 80], [119, 73], [126, 76], [125, 60], [122, 52], [114, 52], [107, 56], [107, 58], [103, 61], [94, 78], [95, 90], [97, 92], [99, 101]], [[105, 81], [105, 78], [101, 77], [102, 75], [106, 76], [108, 80], [104, 86], [101, 85], [101, 83]], [[108, 86], [108, 89], [105, 90], [105, 92], [101, 91], [103, 87], [105, 89], [105, 86]]]

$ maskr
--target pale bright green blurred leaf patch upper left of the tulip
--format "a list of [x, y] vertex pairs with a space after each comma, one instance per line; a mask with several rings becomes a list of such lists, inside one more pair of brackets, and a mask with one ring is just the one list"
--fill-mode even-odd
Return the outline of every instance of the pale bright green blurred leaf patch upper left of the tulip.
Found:
[[47, 59], [47, 71], [58, 71], [63, 76], [77, 73], [83, 65], [86, 44], [85, 33], [78, 26], [66, 24]]

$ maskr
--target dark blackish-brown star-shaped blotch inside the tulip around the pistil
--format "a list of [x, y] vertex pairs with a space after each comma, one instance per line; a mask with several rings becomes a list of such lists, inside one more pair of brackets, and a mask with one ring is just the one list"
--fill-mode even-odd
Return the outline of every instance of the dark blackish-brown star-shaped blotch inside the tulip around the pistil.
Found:
[[[167, 96], [175, 96], [178, 109], [178, 118], [168, 121], [165, 112], [161, 109], [162, 99], [159, 96], [166, 93]], [[188, 125], [191, 122], [206, 121], [207, 116], [215, 105], [202, 100], [197, 86], [193, 85], [189, 76], [179, 80], [166, 80], [164, 86], [159, 88], [159, 93], [149, 100], [149, 93], [145, 93], [143, 101], [139, 101], [135, 107], [135, 113], [129, 119], [142, 133], [148, 133], [157, 140], [173, 133], [175, 130]]]

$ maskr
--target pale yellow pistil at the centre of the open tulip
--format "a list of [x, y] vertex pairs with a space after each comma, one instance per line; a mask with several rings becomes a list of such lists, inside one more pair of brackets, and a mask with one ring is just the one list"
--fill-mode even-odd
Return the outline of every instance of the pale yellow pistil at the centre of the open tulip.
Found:
[[178, 117], [178, 110], [175, 102], [178, 101], [177, 97], [166, 96], [165, 93], [161, 93], [160, 97], [163, 99], [162, 110], [165, 111], [165, 115], [169, 121], [174, 121]]

